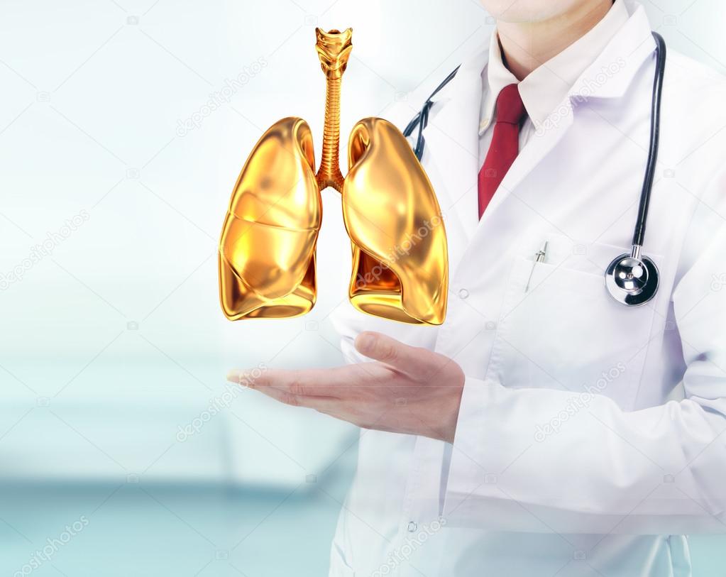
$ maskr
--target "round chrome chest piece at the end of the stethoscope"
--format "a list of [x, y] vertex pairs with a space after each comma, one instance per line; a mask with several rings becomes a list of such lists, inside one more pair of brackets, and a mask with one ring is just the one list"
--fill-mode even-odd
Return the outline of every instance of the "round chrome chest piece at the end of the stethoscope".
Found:
[[619, 303], [643, 305], [658, 291], [658, 267], [647, 256], [637, 258], [631, 253], [623, 253], [608, 265], [605, 286]]

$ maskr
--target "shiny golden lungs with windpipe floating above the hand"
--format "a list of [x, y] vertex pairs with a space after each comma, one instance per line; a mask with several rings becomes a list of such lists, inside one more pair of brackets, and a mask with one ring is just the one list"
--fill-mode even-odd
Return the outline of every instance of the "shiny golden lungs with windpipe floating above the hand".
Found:
[[283, 118], [261, 137], [234, 186], [219, 242], [219, 293], [230, 320], [299, 316], [313, 307], [320, 191], [333, 187], [353, 247], [351, 303], [395, 321], [444, 322], [441, 209], [403, 134], [387, 120], [361, 120], [348, 140], [348, 175], [340, 172], [340, 81], [352, 33], [316, 30], [327, 78], [317, 173], [309, 126]]

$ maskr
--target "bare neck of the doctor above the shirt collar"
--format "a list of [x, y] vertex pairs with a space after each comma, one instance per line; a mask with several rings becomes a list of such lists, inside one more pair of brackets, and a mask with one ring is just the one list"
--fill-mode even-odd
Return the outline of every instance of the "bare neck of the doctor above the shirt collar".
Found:
[[517, 80], [582, 38], [612, 7], [613, 0], [580, 2], [563, 15], [539, 22], [497, 21], [502, 59]]

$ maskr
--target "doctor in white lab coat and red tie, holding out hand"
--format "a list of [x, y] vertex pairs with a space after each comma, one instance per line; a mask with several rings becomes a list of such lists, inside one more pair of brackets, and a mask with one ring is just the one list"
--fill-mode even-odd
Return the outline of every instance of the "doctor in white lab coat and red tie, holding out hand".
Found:
[[496, 32], [424, 131], [446, 322], [340, 306], [348, 366], [252, 386], [364, 427], [332, 576], [690, 575], [685, 535], [726, 533], [726, 83], [669, 50], [644, 248], [660, 287], [627, 307], [603, 271], [645, 170], [643, 7], [484, 6]]

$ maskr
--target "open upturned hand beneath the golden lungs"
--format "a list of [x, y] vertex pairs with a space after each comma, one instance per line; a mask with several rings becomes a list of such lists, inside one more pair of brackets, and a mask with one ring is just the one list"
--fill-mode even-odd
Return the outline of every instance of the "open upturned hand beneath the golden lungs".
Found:
[[454, 441], [465, 378], [455, 361], [378, 332], [362, 332], [355, 347], [375, 362], [269, 369], [254, 379], [234, 369], [227, 380], [359, 427]]

